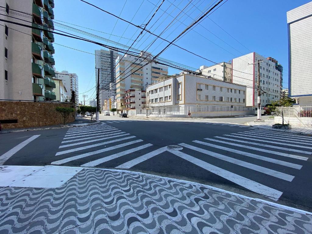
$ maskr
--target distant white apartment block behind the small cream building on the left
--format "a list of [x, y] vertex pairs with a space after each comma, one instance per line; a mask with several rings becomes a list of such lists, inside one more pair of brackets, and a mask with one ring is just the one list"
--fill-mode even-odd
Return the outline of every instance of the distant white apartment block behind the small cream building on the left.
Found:
[[55, 72], [56, 79], [62, 80], [66, 86], [66, 99], [71, 99], [71, 92], [75, 91], [75, 101], [79, 104], [79, 86], [78, 86], [78, 76], [76, 73], [68, 73], [68, 71]]

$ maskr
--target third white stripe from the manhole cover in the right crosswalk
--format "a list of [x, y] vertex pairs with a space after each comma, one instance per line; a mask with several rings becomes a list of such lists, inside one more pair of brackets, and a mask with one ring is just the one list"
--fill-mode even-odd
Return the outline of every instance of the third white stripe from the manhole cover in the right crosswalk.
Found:
[[279, 164], [279, 165], [290, 167], [290, 168], [295, 168], [295, 169], [301, 169], [302, 168], [301, 165], [298, 165], [298, 164], [295, 164], [295, 163], [289, 163], [289, 162], [285, 162], [285, 161], [274, 159], [274, 158], [268, 158], [268, 157], [264, 157], [264, 156], [261, 156], [261, 155], [258, 155], [258, 154], [251, 154], [251, 153], [247, 153], [247, 152], [240, 151], [240, 150], [237, 150], [237, 149], [231, 149], [231, 148], [227, 148], [227, 147], [223, 147], [223, 146], [215, 145], [215, 144], [210, 144], [210, 143], [203, 142], [203, 141], [198, 141], [198, 140], [195, 140], [193, 142], [198, 143], [198, 144], [202, 144], [202, 145], [207, 145], [207, 146], [210, 146], [210, 147], [213, 147], [213, 148], [217, 148], [217, 149], [222, 149], [222, 150], [225, 150], [225, 151], [233, 152], [233, 153], [236, 153], [236, 154], [245, 155], [245, 156], [248, 156], [248, 157], [251, 157], [251, 158], [257, 158], [257, 159], [260, 159], [260, 160], [263, 160], [263, 161]]

